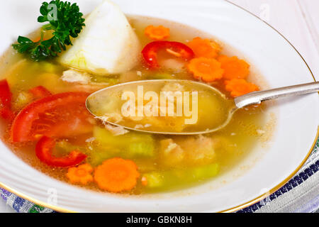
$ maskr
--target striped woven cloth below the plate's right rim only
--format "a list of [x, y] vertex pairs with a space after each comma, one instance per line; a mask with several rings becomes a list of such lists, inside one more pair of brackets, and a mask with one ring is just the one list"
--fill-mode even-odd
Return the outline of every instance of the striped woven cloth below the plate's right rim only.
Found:
[[237, 211], [312, 213], [319, 209], [319, 139], [301, 170], [281, 189], [257, 204]]

